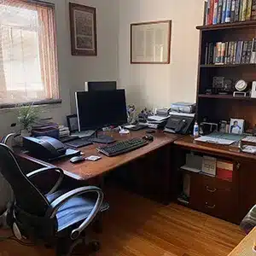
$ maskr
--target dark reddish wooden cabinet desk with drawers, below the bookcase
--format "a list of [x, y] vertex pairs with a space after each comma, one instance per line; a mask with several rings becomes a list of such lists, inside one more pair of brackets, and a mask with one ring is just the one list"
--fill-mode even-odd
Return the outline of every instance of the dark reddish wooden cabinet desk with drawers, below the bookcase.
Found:
[[185, 154], [190, 151], [234, 164], [232, 182], [189, 173], [189, 207], [239, 224], [256, 203], [256, 155], [233, 151], [234, 148], [230, 150], [229, 146], [199, 143], [190, 136], [181, 137], [174, 144], [177, 153], [176, 172], [179, 172], [179, 167], [185, 163]]

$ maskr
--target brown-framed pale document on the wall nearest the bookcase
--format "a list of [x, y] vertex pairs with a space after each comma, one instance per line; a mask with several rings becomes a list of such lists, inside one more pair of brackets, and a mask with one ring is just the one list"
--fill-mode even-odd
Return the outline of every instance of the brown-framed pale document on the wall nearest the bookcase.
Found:
[[131, 24], [131, 64], [169, 64], [172, 20]]

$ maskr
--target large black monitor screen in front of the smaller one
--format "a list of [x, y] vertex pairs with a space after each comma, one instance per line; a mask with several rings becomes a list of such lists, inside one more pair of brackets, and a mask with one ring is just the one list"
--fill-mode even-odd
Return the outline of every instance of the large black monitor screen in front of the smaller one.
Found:
[[125, 90], [76, 92], [79, 131], [127, 123]]

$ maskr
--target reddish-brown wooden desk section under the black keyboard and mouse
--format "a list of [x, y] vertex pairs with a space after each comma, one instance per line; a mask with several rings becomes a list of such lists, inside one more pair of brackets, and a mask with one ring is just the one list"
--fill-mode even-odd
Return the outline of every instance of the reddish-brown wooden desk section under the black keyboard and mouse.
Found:
[[[143, 137], [145, 130], [133, 131], [128, 135], [119, 135], [118, 132], [108, 134], [117, 141], [132, 137]], [[181, 137], [157, 131], [153, 134], [154, 142], [148, 143], [143, 148], [120, 154], [116, 157], [107, 157], [96, 151], [97, 144], [79, 148], [84, 156], [100, 155], [101, 160], [96, 162], [84, 161], [72, 164], [69, 159], [46, 163], [27, 154], [20, 154], [20, 159], [40, 166], [58, 166], [66, 172], [67, 176], [77, 180], [89, 180], [101, 177], [103, 174], [122, 167], [122, 172], [129, 175], [131, 186], [135, 192], [146, 195], [157, 201], [169, 202], [172, 194], [172, 147], [173, 141]], [[126, 178], [127, 179], [127, 178]], [[124, 178], [125, 180], [125, 178]]]

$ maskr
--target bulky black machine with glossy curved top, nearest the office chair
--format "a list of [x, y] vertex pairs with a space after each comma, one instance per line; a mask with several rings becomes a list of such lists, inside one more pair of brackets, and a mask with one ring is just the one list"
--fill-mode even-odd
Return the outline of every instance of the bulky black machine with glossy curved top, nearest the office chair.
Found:
[[23, 137], [23, 146], [30, 154], [42, 160], [51, 160], [67, 153], [67, 147], [53, 137]]

